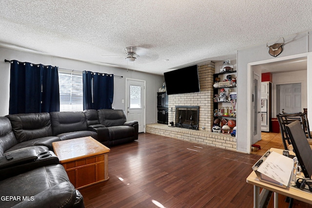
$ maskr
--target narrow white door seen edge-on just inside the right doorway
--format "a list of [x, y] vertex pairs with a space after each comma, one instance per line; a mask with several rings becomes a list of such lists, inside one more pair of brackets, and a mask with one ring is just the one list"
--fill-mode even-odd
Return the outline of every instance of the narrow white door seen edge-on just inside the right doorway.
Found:
[[257, 141], [261, 140], [261, 80], [256, 74], [254, 74], [252, 103], [254, 108], [254, 133], [252, 143], [254, 144]]

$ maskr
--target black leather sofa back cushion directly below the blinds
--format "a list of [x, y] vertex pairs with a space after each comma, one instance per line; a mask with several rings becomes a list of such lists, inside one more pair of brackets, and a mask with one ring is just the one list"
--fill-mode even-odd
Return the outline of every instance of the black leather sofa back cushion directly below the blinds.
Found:
[[83, 112], [51, 112], [50, 116], [53, 135], [87, 130]]

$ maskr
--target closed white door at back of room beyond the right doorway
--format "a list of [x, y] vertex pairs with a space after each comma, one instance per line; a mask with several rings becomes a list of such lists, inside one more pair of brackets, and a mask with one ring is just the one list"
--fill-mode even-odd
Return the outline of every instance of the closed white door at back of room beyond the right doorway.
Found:
[[301, 83], [279, 85], [279, 113], [298, 113], [301, 109]]

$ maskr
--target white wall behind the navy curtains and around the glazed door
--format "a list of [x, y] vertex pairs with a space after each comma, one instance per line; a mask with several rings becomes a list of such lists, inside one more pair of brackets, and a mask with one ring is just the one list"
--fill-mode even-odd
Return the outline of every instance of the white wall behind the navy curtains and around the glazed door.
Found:
[[38, 55], [33, 53], [21, 52], [13, 49], [0, 47], [0, 116], [9, 113], [9, 86], [10, 86], [10, 63], [4, 62], [7, 60], [19, 60], [21, 62], [31, 62], [35, 64], [44, 64], [58, 66], [59, 68], [77, 70], [77, 71], [93, 71], [107, 74], [114, 74], [121, 77], [114, 79], [114, 100], [112, 107], [114, 109], [125, 110], [125, 104], [122, 99], [126, 100], [126, 78], [141, 79], [146, 81], [146, 123], [157, 122], [157, 92], [158, 88], [164, 82], [163, 76], [137, 72], [134, 70], [126, 70], [121, 68], [113, 68], [101, 66], [91, 63], [86, 63], [78, 60], [71, 60], [61, 57], [51, 57]]

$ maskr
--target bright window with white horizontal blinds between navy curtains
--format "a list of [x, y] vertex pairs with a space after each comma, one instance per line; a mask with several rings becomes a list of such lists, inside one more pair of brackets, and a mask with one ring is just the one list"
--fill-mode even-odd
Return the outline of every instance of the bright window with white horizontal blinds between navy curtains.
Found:
[[82, 72], [59, 70], [59, 111], [83, 111]]

